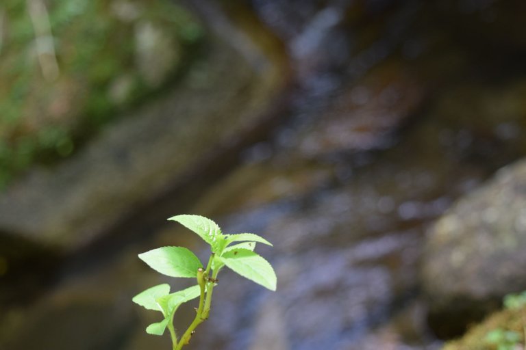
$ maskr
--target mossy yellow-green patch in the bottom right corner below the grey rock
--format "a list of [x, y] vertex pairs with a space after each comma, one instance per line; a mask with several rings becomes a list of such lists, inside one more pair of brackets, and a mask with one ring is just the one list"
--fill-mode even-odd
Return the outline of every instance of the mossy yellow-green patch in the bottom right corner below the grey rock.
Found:
[[502, 310], [471, 328], [462, 338], [448, 342], [442, 350], [524, 349], [525, 327], [526, 305]]

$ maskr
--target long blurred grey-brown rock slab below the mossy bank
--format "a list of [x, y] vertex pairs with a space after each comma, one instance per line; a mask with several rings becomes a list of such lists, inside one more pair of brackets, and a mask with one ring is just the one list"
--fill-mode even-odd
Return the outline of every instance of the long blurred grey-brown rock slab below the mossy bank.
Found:
[[61, 249], [84, 245], [264, 119], [284, 86], [283, 66], [254, 45], [261, 61], [254, 67], [210, 35], [207, 58], [177, 86], [109, 126], [74, 158], [35, 169], [1, 193], [0, 230]]

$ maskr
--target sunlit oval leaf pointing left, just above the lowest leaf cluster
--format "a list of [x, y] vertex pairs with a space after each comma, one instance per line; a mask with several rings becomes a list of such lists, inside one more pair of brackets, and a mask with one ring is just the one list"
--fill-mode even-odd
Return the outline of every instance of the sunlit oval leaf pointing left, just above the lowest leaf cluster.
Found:
[[197, 277], [203, 267], [199, 258], [184, 247], [161, 247], [139, 254], [149, 267], [171, 277]]

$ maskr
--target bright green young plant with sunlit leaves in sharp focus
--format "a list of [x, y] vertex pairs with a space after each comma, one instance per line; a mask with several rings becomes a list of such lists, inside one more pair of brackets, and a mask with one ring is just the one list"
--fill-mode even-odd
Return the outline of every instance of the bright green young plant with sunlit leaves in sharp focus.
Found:
[[[171, 277], [195, 278], [197, 284], [175, 293], [170, 293], [168, 284], [159, 284], [136, 295], [132, 300], [144, 308], [162, 313], [162, 321], [149, 325], [146, 332], [162, 336], [168, 328], [172, 349], [179, 350], [188, 345], [196, 327], [208, 319], [212, 292], [218, 282], [217, 275], [223, 267], [226, 266], [271, 291], [276, 290], [277, 279], [272, 266], [254, 252], [255, 243], [272, 245], [263, 237], [253, 233], [223, 234], [214, 221], [199, 215], [177, 215], [168, 220], [179, 222], [210, 245], [208, 264], [204, 267], [199, 258], [185, 247], [160, 247], [139, 254], [139, 258], [155, 271]], [[195, 318], [181, 338], [178, 338], [173, 327], [174, 314], [181, 304], [197, 297], [199, 306]]]

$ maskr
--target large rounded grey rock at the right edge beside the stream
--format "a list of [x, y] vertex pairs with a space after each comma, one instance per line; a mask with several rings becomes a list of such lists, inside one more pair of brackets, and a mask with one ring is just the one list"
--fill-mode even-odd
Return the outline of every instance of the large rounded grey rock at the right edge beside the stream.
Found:
[[422, 283], [442, 335], [526, 288], [526, 161], [499, 170], [431, 228]]

